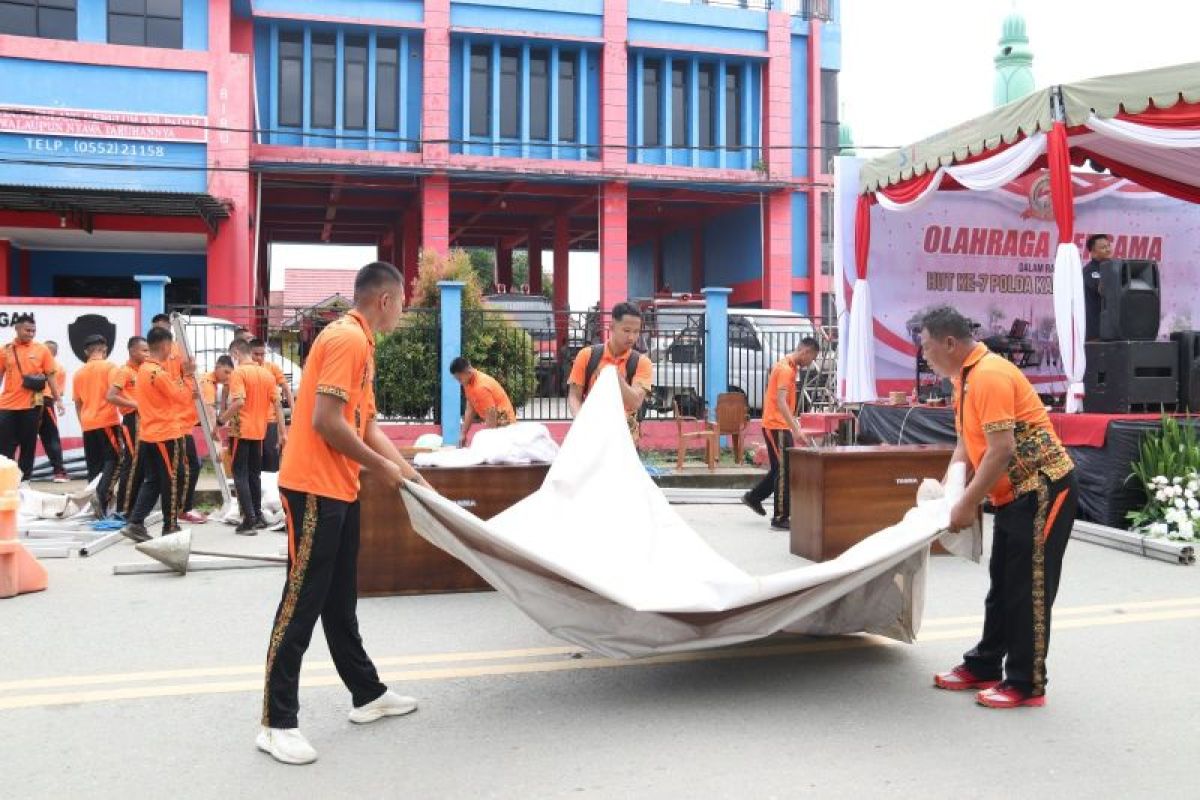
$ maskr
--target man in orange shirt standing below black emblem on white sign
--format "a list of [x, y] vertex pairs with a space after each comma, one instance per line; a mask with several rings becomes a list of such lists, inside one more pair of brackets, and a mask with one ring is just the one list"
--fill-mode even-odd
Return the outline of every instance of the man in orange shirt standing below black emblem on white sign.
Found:
[[83, 428], [83, 452], [88, 462], [88, 480], [97, 475], [96, 516], [108, 516], [113, 474], [120, 459], [121, 417], [108, 402], [110, 377], [116, 367], [108, 360], [108, 342], [103, 336], [89, 336], [83, 343], [88, 362], [79, 367], [72, 381], [72, 396], [79, 427]]

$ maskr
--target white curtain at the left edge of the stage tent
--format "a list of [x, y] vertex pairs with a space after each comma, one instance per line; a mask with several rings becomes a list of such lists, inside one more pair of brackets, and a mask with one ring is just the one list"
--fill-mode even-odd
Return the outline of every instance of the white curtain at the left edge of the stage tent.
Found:
[[[865, 403], [878, 398], [875, 389], [875, 330], [871, 325], [871, 293], [866, 281], [858, 279], [854, 265], [854, 215], [858, 207], [858, 173], [863, 158], [834, 158], [833, 272], [838, 307], [838, 399]], [[850, 307], [846, 284], [852, 287]], [[856, 311], [862, 307], [863, 311]], [[858, 319], [858, 313], [866, 314]], [[864, 325], [865, 319], [865, 327]]]

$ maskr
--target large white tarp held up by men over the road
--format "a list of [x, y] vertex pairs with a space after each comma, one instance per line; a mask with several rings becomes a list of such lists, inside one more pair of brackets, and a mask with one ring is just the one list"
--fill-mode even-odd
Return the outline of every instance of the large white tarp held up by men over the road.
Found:
[[929, 545], [953, 499], [913, 509], [834, 560], [748, 575], [691, 530], [646, 474], [612, 369], [588, 395], [542, 487], [508, 511], [484, 522], [424, 487], [402, 492], [421, 536], [554, 636], [612, 657], [779, 631], [911, 642]]

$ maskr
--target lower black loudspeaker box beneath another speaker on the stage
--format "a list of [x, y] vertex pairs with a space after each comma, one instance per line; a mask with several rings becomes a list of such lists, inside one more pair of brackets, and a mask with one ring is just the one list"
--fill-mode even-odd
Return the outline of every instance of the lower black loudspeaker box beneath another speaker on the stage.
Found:
[[1178, 342], [1088, 342], [1084, 351], [1085, 411], [1128, 414], [1178, 402]]

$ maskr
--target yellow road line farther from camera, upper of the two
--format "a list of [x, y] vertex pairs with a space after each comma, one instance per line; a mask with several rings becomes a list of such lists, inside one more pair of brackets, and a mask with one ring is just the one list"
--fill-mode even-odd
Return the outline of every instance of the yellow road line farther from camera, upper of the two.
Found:
[[[1148, 600], [1136, 602], [1102, 603], [1092, 606], [1075, 606], [1069, 608], [1055, 608], [1055, 626], [1064, 624], [1063, 618], [1084, 614], [1111, 613], [1118, 619], [1128, 615], [1129, 612], [1153, 610], [1160, 608], [1177, 608], [1200, 604], [1198, 597], [1171, 597], [1166, 600]], [[946, 616], [940, 619], [926, 619], [922, 622], [922, 633], [918, 637], [922, 642], [937, 640], [936, 628], [956, 625], [979, 625], [983, 616]], [[930, 630], [935, 628], [935, 630]], [[976, 628], [978, 632], [978, 628]], [[956, 637], [955, 637], [956, 638]], [[779, 645], [774, 645], [779, 646]], [[376, 658], [374, 663], [379, 668], [404, 667], [412, 664], [436, 664], [436, 663], [463, 663], [479, 661], [512, 661], [518, 658], [539, 658], [580, 652], [583, 648], [571, 645], [558, 645], [547, 648], [522, 648], [511, 650], [482, 650], [464, 652], [427, 652], [407, 656], [389, 656]], [[331, 661], [306, 661], [304, 674], [307, 676], [317, 672], [332, 672]], [[104, 686], [108, 684], [144, 684], [146, 681], [160, 680], [188, 680], [204, 678], [238, 678], [244, 675], [259, 676], [263, 674], [263, 664], [230, 664], [224, 667], [191, 667], [179, 669], [155, 669], [128, 673], [106, 673], [96, 675], [62, 675], [56, 678], [29, 678], [0, 682], [0, 694], [7, 692], [19, 692], [38, 688], [74, 688], [83, 686]], [[2, 708], [2, 706], [0, 706]]]

